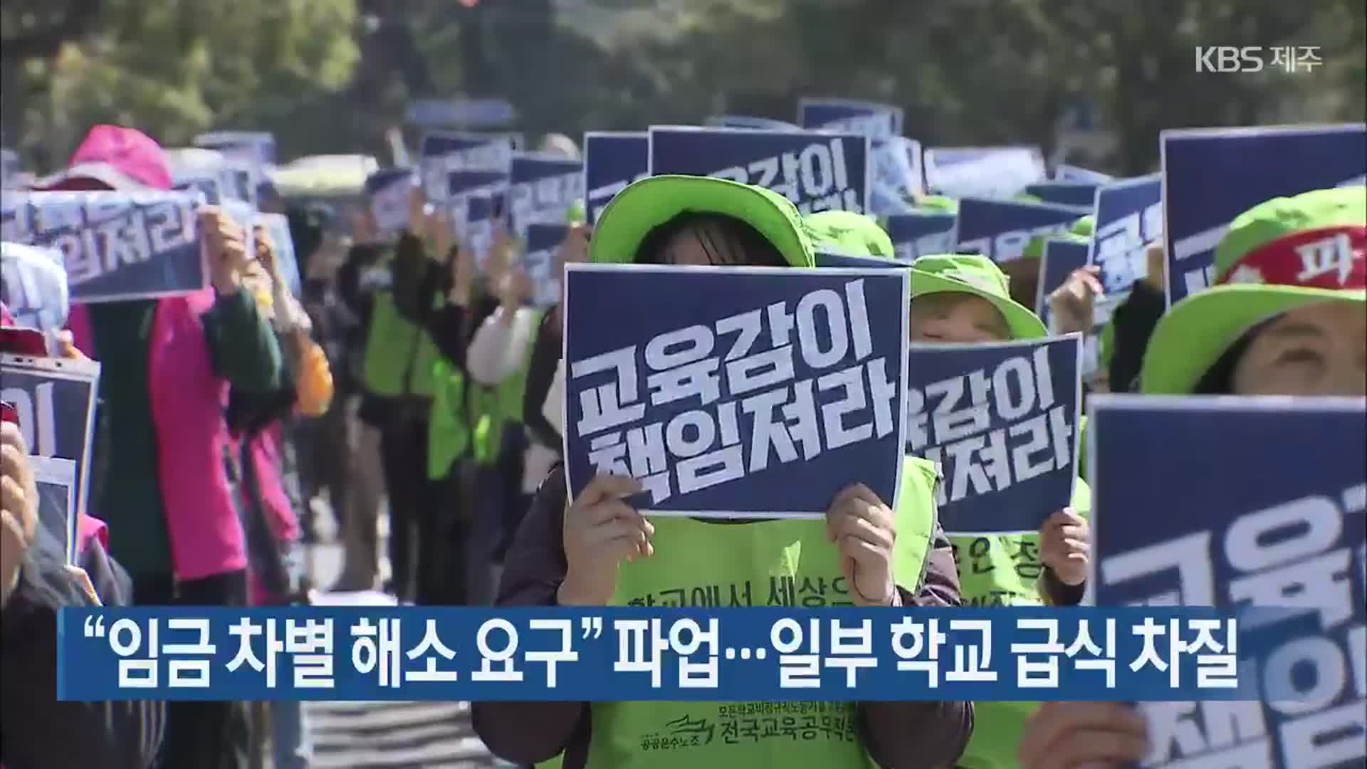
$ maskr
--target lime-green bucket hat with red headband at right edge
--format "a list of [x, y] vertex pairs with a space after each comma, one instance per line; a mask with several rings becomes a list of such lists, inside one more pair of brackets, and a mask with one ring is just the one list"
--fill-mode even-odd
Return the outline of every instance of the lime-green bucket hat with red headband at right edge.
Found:
[[[1312, 256], [1305, 256], [1305, 255]], [[1173, 305], [1144, 352], [1140, 391], [1189, 394], [1249, 328], [1322, 301], [1364, 302], [1367, 187], [1260, 203], [1215, 248], [1215, 285]]]

